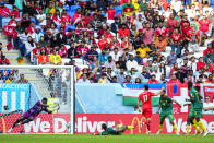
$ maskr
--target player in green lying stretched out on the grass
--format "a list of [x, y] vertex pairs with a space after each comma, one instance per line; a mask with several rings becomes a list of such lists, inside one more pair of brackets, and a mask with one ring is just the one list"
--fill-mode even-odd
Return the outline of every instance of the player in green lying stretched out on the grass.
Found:
[[94, 135], [122, 135], [122, 133], [126, 130], [134, 129], [134, 127], [119, 124], [119, 126], [116, 126], [116, 128], [112, 128], [112, 127], [108, 128], [106, 123], [103, 123], [102, 129], [104, 130], [103, 132], [94, 134]]

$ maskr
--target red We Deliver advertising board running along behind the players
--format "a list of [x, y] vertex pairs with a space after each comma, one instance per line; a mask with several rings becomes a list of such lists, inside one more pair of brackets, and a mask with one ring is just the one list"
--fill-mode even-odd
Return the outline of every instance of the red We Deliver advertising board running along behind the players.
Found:
[[[13, 122], [20, 117], [20, 115], [11, 115], [9, 117], [0, 118], [0, 131], [7, 133], [12, 127]], [[178, 127], [180, 133], [186, 133], [188, 114], [175, 115], [175, 123]], [[75, 115], [75, 134], [91, 134], [102, 132], [102, 124], [106, 123], [108, 127], [116, 127], [122, 121], [123, 124], [136, 124], [134, 130], [128, 130], [126, 134], [145, 134], [146, 129], [140, 129], [140, 123], [143, 120], [141, 115], [136, 114], [76, 114]], [[202, 121], [210, 133], [214, 133], [214, 116], [203, 115]], [[151, 131], [156, 133], [158, 131], [159, 115], [152, 116]], [[34, 121], [24, 126], [16, 127], [12, 133], [28, 134], [61, 134], [70, 133], [70, 115], [69, 114], [41, 114]], [[175, 131], [168, 119], [163, 126], [164, 134], [173, 134]], [[191, 127], [191, 133], [194, 133], [194, 129]]]

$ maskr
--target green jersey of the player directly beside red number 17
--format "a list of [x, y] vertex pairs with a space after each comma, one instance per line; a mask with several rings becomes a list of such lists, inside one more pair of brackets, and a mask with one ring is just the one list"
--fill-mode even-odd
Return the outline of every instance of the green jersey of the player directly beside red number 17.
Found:
[[173, 114], [173, 99], [167, 96], [166, 98], [159, 98], [159, 105], [162, 107], [162, 112]]

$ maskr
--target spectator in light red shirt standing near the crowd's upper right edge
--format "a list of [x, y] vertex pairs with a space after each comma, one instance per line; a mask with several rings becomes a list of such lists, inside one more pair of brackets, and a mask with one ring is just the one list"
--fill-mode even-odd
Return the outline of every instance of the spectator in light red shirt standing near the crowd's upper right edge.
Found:
[[200, 24], [200, 35], [207, 35], [209, 34], [209, 27], [211, 24], [211, 20], [207, 19], [206, 16], [203, 16], [203, 19], [201, 19], [199, 21]]

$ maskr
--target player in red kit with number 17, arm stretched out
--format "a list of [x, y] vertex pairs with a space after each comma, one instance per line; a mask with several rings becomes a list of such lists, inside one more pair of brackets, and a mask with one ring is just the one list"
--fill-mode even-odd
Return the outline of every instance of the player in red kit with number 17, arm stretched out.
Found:
[[141, 123], [141, 127], [146, 124], [148, 133], [151, 133], [150, 123], [151, 123], [151, 117], [153, 112], [151, 98], [152, 96], [159, 95], [163, 90], [164, 87], [157, 93], [152, 93], [148, 91], [148, 85], [144, 85], [144, 92], [139, 95], [138, 107], [140, 107], [140, 103], [142, 102], [142, 116], [145, 118], [145, 120]]

